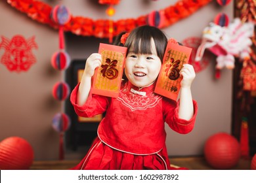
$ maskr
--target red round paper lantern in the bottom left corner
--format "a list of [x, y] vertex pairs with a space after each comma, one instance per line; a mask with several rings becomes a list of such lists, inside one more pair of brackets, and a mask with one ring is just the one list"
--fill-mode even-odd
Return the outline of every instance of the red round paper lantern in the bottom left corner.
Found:
[[1, 170], [28, 170], [33, 163], [33, 148], [20, 137], [9, 137], [0, 142]]

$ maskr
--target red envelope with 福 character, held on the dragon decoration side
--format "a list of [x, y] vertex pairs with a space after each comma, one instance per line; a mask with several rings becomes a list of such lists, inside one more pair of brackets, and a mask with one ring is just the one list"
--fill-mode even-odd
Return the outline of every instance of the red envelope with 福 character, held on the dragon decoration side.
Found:
[[160, 74], [156, 82], [155, 93], [177, 100], [181, 88], [182, 76], [179, 74], [183, 64], [188, 63], [192, 48], [168, 42]]

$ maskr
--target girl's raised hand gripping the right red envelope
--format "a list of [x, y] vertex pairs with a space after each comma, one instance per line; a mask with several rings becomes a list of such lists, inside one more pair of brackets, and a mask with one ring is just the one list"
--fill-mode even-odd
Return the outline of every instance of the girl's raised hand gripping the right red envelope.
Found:
[[181, 88], [190, 88], [194, 78], [196, 77], [196, 73], [194, 71], [194, 67], [190, 64], [184, 64], [181, 69]]

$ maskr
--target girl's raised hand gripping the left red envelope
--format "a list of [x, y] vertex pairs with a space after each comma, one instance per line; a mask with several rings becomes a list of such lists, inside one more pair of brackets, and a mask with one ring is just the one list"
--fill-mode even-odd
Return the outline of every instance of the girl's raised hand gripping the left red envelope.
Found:
[[100, 54], [91, 54], [85, 63], [85, 71], [83, 72], [84, 76], [92, 77], [95, 73], [96, 67], [100, 67], [102, 58]]

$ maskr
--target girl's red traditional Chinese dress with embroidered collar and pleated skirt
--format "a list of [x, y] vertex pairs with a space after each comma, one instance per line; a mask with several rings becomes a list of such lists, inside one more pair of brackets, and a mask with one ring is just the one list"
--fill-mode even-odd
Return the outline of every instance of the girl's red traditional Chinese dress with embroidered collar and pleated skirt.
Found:
[[79, 84], [71, 103], [79, 116], [93, 117], [106, 112], [98, 125], [98, 137], [85, 158], [73, 169], [171, 169], [165, 145], [165, 122], [178, 133], [189, 133], [190, 120], [179, 118], [179, 103], [154, 93], [155, 83], [145, 88], [131, 82], [121, 85], [118, 98], [92, 95], [83, 106], [76, 103]]

